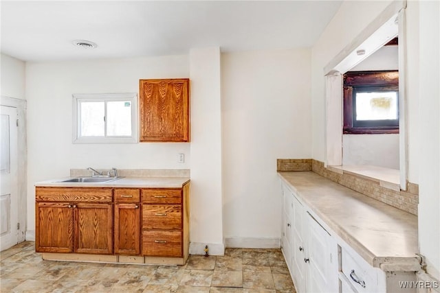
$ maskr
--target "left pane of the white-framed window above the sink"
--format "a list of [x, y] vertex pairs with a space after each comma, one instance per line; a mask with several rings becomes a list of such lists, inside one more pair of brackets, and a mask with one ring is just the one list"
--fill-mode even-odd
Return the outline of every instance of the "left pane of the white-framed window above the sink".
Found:
[[80, 102], [80, 136], [104, 136], [104, 102]]

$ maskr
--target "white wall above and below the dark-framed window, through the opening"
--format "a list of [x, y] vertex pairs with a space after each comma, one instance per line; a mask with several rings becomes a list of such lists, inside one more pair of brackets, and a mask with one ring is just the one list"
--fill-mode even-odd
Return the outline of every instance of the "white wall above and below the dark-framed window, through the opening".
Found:
[[[397, 46], [378, 49], [350, 71], [399, 70]], [[344, 134], [342, 165], [399, 169], [399, 134]]]

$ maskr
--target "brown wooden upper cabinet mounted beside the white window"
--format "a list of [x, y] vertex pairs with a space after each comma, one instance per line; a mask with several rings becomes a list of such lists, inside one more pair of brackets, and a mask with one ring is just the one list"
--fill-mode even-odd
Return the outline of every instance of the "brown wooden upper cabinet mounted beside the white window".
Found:
[[190, 141], [190, 80], [140, 80], [140, 141]]

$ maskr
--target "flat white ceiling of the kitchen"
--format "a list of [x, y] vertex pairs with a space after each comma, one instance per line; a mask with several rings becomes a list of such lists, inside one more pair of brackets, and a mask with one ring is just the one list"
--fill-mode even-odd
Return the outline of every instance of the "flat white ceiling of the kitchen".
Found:
[[[311, 47], [342, 1], [1, 1], [1, 52], [25, 61]], [[72, 40], [98, 47], [82, 49]]]

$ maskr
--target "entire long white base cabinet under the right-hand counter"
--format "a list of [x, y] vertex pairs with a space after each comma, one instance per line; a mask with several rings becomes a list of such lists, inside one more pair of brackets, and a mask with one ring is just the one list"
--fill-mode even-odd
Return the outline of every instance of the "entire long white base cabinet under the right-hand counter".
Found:
[[[417, 281], [414, 273], [418, 270], [417, 266], [413, 268], [413, 263], [410, 263], [411, 268], [402, 270], [395, 261], [388, 263], [391, 266], [373, 268], [348, 244], [356, 242], [342, 239], [334, 228], [330, 228], [331, 222], [325, 222], [318, 216], [331, 221], [327, 214], [309, 207], [307, 195], [297, 195], [294, 186], [285, 181], [282, 183], [281, 243], [296, 292], [415, 292], [415, 288], [402, 289], [399, 284]], [[402, 264], [406, 266], [408, 263], [402, 261]]]

